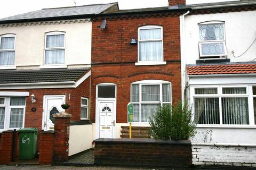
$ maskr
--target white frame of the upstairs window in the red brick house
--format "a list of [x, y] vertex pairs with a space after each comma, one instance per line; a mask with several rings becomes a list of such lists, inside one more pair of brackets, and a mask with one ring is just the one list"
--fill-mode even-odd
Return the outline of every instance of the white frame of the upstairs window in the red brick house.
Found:
[[[150, 40], [141, 40], [140, 39], [140, 30], [146, 29], [161, 29], [161, 39], [150, 39]], [[155, 42], [155, 41], [162, 41], [162, 60], [157, 61], [140, 61], [140, 43], [144, 42]], [[159, 25], [146, 25], [138, 28], [138, 63], [135, 65], [164, 65], [164, 40], [163, 40], [163, 27]]]

